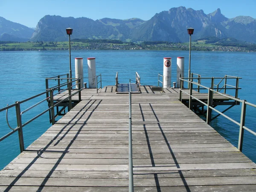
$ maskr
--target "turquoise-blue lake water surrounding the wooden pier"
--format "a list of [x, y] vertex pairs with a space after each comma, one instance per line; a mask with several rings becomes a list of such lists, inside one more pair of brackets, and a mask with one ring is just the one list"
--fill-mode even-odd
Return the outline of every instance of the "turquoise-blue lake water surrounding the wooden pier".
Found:
[[[157, 74], [163, 74], [163, 58], [172, 57], [172, 82], [176, 81], [177, 57], [185, 57], [185, 77], [188, 71], [188, 51], [149, 51], [149, 50], [81, 50], [72, 51], [72, 72], [75, 74], [75, 58], [84, 58], [84, 81], [87, 82], [87, 58], [96, 58], [96, 74], [102, 73], [102, 86], [114, 85], [116, 72], [119, 72], [119, 83], [135, 80], [135, 72], [140, 74], [141, 83], [157, 85]], [[0, 108], [13, 104], [30, 96], [44, 92], [45, 78], [69, 73], [68, 51], [20, 51], [0, 52], [1, 93]], [[224, 77], [224, 75], [242, 77], [239, 81], [239, 98], [256, 104], [256, 53], [247, 52], [196, 52], [191, 53], [191, 72], [202, 77]], [[202, 81], [202, 84], [205, 84]], [[233, 83], [234, 84], [234, 83]], [[209, 84], [205, 84], [208, 85]], [[233, 91], [234, 93], [234, 91]], [[33, 99], [21, 105], [24, 110], [45, 96]], [[22, 121], [47, 109], [43, 103], [31, 111], [24, 113]], [[221, 108], [217, 108], [221, 109]], [[38, 112], [40, 111], [40, 112]], [[225, 114], [240, 122], [241, 106], [235, 106]], [[6, 123], [6, 113], [0, 113], [0, 137], [11, 129]], [[15, 110], [9, 110], [10, 125], [17, 126]], [[256, 109], [247, 107], [245, 125], [256, 131]], [[211, 123], [222, 136], [237, 147], [239, 126], [218, 117]], [[25, 148], [40, 137], [51, 125], [46, 113], [23, 128]], [[3, 169], [20, 152], [17, 133], [0, 142], [0, 169]], [[256, 162], [256, 137], [244, 131], [243, 153]]]

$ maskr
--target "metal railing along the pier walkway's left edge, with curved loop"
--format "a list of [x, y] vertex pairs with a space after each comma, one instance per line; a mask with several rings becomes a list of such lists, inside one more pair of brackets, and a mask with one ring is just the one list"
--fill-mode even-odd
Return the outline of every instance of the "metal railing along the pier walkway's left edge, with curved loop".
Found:
[[[58, 77], [58, 76], [57, 76]], [[59, 78], [58, 78], [59, 79]], [[77, 80], [77, 79], [76, 79]], [[51, 114], [52, 114], [52, 125], [55, 124], [55, 112], [54, 112], [54, 107], [57, 107], [58, 105], [60, 105], [61, 102], [64, 102], [65, 100], [69, 99], [69, 111], [72, 109], [72, 100], [71, 100], [71, 97], [76, 95], [77, 93], [79, 93], [79, 101], [81, 101], [81, 82], [80, 82], [80, 79], [79, 79], [79, 89], [76, 91], [76, 92], [72, 92], [71, 93], [71, 87], [72, 86], [76, 86], [76, 84], [72, 85], [72, 82], [75, 82], [76, 80], [74, 81], [69, 81], [65, 84], [61, 84], [60, 86], [58, 87], [54, 87], [54, 88], [50, 88], [50, 89], [47, 89], [46, 91], [44, 91], [43, 93], [39, 93], [38, 95], [35, 95], [35, 96], [32, 96], [32, 97], [29, 97], [28, 99], [24, 99], [22, 101], [17, 101], [15, 102], [14, 104], [12, 105], [7, 105], [6, 107], [4, 108], [1, 108], [0, 109], [0, 112], [2, 111], [6, 111], [6, 122], [7, 122], [7, 125], [9, 126], [10, 129], [12, 129], [11, 132], [9, 132], [8, 134], [6, 134], [5, 136], [1, 137], [0, 138], [0, 142], [4, 139], [6, 139], [7, 137], [9, 137], [10, 135], [14, 134], [16, 131], [18, 131], [18, 136], [19, 136], [19, 143], [20, 143], [20, 152], [24, 151], [24, 141], [23, 141], [23, 127], [28, 125], [30, 122], [34, 121], [35, 119], [37, 119], [38, 117], [42, 116], [44, 113], [47, 113], [48, 111], [51, 111]], [[61, 87], [64, 87], [64, 86], [67, 86], [68, 88], [66, 89], [63, 89], [63, 90], [60, 90]], [[58, 91], [58, 93], [54, 93], [55, 90], [60, 90]], [[59, 101], [58, 103], [54, 104], [54, 101], [53, 101], [53, 96], [59, 94], [60, 92], [63, 92], [64, 90], [69, 90], [69, 94], [66, 98], [62, 99], [61, 101]], [[20, 112], [20, 104], [22, 103], [25, 103], [27, 101], [30, 101], [31, 99], [35, 99], [39, 96], [42, 96], [44, 94], [47, 94], [47, 97], [43, 100], [41, 100], [40, 102], [37, 102], [36, 104], [32, 105], [31, 107], [25, 109], [24, 111]], [[50, 103], [50, 106], [48, 109], [46, 109], [45, 111], [39, 113], [38, 115], [34, 116], [32, 119], [29, 119], [27, 122], [25, 123], [22, 123], [22, 114], [23, 113], [26, 113], [27, 111], [31, 110], [32, 108], [35, 108], [36, 106], [38, 106], [39, 104], [43, 103], [43, 102], [46, 102], [48, 101]], [[10, 125], [9, 125], [9, 120], [8, 120], [8, 110], [10, 108], [14, 108], [15, 107], [15, 110], [16, 110], [16, 118], [17, 118], [17, 127], [16, 128], [12, 128]]]

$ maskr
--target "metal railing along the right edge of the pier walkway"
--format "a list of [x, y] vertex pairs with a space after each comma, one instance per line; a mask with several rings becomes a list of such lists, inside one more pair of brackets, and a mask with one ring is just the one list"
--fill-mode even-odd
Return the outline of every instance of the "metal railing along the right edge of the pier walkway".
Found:
[[[228, 96], [226, 94], [223, 93], [219, 93], [218, 91], [209, 88], [209, 87], [205, 87], [201, 84], [195, 83], [193, 81], [187, 81], [183, 78], [180, 78], [180, 86], [182, 87], [183, 85], [183, 81], [186, 81], [190, 84], [190, 89], [189, 89], [189, 93], [186, 93], [182, 88], [180, 88], [180, 101], [182, 101], [182, 93], [185, 93], [187, 95], [189, 95], [189, 109], [192, 110], [192, 99], [195, 99], [196, 101], [200, 102], [201, 104], [207, 106], [207, 116], [206, 116], [206, 122], [207, 124], [209, 124], [209, 122], [211, 121], [211, 113], [212, 110], [217, 112], [219, 115], [224, 116], [225, 118], [229, 119], [231, 122], [235, 123], [236, 125], [239, 126], [239, 141], [238, 141], [238, 149], [240, 151], [242, 151], [242, 146], [243, 146], [243, 139], [244, 139], [244, 129], [248, 132], [250, 132], [251, 134], [256, 136], [256, 132], [252, 131], [251, 129], [247, 128], [246, 126], [244, 126], [245, 124], [245, 115], [246, 115], [246, 106], [249, 105], [253, 108], [256, 108], [256, 105], [247, 102], [246, 100], [241, 100], [241, 99], [237, 99], [235, 97], [232, 96]], [[195, 96], [192, 96], [192, 89], [193, 89], [193, 84], [203, 87], [204, 89], [208, 90], [208, 100], [207, 103], [201, 101], [200, 99], [196, 98]], [[213, 84], [212, 84], [213, 85]], [[236, 90], [238, 90], [238, 88], [236, 87]], [[240, 116], [240, 122], [235, 121], [234, 119], [230, 118], [229, 116], [225, 115], [223, 112], [218, 111], [217, 109], [212, 107], [212, 100], [213, 100], [213, 93], [216, 93], [220, 96], [224, 96], [228, 99], [234, 100], [236, 102], [240, 102], [242, 104], [241, 106], [241, 116]], [[237, 95], [236, 95], [237, 96]]]

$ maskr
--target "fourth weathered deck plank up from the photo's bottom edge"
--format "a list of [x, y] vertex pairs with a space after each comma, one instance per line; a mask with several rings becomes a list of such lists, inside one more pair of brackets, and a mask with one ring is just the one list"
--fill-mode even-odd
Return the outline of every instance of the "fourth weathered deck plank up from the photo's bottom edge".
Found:
[[[44, 166], [42, 166], [44, 165]], [[4, 169], [24, 169], [24, 170], [58, 170], [58, 171], [128, 171], [128, 164], [28, 164], [9, 163]], [[137, 171], [172, 171], [172, 170], [209, 170], [209, 169], [256, 169], [255, 163], [181, 163], [181, 164], [137, 164], [134, 166], [134, 173]]]

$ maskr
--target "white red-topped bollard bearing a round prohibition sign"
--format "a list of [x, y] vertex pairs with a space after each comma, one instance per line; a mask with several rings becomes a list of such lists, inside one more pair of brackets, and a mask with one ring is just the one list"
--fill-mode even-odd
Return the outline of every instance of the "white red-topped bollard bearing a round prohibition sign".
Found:
[[163, 58], [163, 88], [171, 87], [172, 79], [172, 58]]

